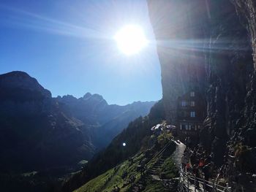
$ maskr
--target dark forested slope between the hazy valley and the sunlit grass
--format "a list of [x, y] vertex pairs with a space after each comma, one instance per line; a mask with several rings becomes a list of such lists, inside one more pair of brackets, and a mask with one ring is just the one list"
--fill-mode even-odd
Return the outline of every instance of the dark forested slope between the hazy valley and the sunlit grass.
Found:
[[[121, 134], [118, 134], [105, 150], [95, 155], [81, 172], [64, 183], [62, 190], [73, 191], [136, 153], [140, 151], [145, 153], [145, 150], [152, 147], [155, 140], [151, 138], [151, 127], [161, 123], [162, 120], [165, 120], [165, 112], [160, 100], [154, 104], [146, 117], [137, 118], [129, 123], [129, 126], [121, 131]], [[125, 147], [123, 143], [126, 143]]]

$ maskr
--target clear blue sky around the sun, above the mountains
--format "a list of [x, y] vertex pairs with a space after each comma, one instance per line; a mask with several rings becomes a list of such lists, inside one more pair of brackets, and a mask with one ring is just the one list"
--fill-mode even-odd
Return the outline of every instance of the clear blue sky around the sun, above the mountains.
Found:
[[[150, 44], [118, 50], [122, 26], [142, 26]], [[53, 96], [101, 94], [109, 104], [162, 98], [146, 1], [0, 0], [0, 73], [25, 71]]]

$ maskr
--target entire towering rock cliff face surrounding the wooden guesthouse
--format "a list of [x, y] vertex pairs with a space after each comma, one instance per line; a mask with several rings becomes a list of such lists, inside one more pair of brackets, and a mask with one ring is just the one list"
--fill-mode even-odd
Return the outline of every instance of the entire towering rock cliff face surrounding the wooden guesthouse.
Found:
[[177, 97], [194, 84], [207, 101], [201, 144], [215, 164], [229, 154], [232, 169], [251, 173], [244, 164], [255, 161], [255, 8], [253, 0], [148, 0], [167, 119], [175, 123]]

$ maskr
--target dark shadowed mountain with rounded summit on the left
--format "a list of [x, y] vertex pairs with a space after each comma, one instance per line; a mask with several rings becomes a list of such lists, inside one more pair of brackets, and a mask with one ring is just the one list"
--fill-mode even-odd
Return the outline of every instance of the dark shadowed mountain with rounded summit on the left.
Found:
[[37, 80], [24, 72], [2, 74], [0, 92], [1, 172], [63, 166], [93, 155], [83, 124], [61, 112]]

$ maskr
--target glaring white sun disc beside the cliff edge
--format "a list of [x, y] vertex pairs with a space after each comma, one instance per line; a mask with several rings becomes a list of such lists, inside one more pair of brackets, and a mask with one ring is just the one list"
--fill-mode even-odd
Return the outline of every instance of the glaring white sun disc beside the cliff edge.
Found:
[[117, 32], [115, 39], [119, 49], [127, 55], [138, 53], [148, 44], [143, 29], [135, 25], [121, 28]]

